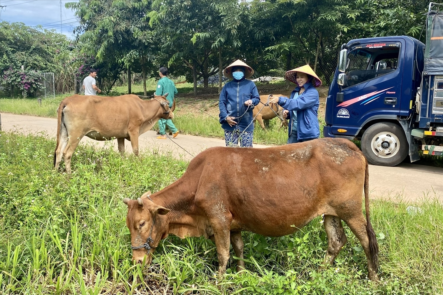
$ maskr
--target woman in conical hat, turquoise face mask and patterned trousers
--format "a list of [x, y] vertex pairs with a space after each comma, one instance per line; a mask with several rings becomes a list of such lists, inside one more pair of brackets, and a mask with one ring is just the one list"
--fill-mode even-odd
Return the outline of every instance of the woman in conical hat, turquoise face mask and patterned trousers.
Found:
[[218, 103], [226, 146], [252, 147], [252, 110], [260, 102], [257, 87], [253, 81], [247, 80], [254, 74], [254, 70], [237, 59], [228, 65], [223, 73], [225, 77], [233, 79], [221, 89]]

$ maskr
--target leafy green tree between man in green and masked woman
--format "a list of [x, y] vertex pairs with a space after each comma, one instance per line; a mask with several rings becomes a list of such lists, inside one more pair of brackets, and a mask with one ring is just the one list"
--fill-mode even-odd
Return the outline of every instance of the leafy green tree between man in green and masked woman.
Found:
[[[237, 30], [242, 25], [245, 10], [236, 0], [191, 1], [172, 0], [154, 2], [148, 14], [150, 25], [167, 36], [162, 49], [170, 58], [169, 65], [189, 68], [187, 77], [194, 80], [203, 77], [204, 87], [208, 78], [220, 73], [223, 65], [232, 59], [232, 47], [240, 46]], [[228, 50], [224, 50], [229, 46]]]

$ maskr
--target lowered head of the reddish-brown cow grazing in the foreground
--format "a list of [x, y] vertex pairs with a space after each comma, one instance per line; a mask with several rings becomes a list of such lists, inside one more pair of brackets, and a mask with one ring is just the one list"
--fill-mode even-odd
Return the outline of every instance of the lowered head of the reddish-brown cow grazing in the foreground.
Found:
[[151, 264], [152, 253], [160, 240], [167, 236], [167, 225], [161, 215], [171, 211], [156, 205], [149, 195], [151, 192], [145, 192], [136, 200], [123, 199], [123, 203], [128, 205], [126, 226], [131, 232], [132, 260], [141, 263], [146, 257], [146, 264]]

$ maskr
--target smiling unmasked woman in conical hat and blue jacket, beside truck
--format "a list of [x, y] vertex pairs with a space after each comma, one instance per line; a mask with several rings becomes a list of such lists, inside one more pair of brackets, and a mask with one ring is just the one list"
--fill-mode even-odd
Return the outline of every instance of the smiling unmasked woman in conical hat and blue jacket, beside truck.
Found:
[[291, 97], [272, 97], [269, 103], [278, 103], [284, 108], [283, 116], [289, 115], [288, 143], [306, 142], [320, 137], [319, 128], [319, 92], [316, 87], [322, 80], [309, 65], [292, 69], [284, 77], [297, 86]]

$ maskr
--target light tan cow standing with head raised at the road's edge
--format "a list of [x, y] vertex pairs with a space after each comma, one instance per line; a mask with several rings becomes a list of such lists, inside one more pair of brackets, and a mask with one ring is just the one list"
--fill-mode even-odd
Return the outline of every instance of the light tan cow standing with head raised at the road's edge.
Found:
[[141, 100], [138, 96], [80, 96], [66, 97], [57, 109], [57, 145], [54, 166], [65, 157], [66, 172], [71, 172], [71, 157], [83, 136], [95, 140], [117, 138], [118, 150], [124, 153], [124, 139], [131, 141], [138, 155], [138, 137], [151, 130], [160, 119], [172, 119], [169, 101], [164, 96]]

